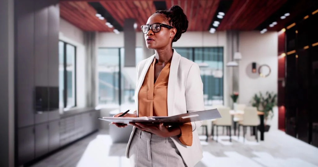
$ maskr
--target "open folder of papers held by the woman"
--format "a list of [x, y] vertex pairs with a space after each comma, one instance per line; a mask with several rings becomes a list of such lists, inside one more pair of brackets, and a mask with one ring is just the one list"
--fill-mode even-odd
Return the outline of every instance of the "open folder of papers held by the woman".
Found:
[[164, 123], [165, 125], [181, 125], [189, 122], [204, 121], [218, 118], [222, 118], [220, 112], [218, 111], [218, 109], [212, 109], [197, 112], [188, 112], [169, 117], [103, 117], [97, 119], [122, 124], [129, 124], [129, 122], [142, 122], [150, 124]]

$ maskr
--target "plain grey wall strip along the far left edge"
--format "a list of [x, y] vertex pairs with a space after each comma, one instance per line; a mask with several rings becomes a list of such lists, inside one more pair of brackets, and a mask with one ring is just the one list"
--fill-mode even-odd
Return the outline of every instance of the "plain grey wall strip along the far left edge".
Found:
[[0, 1], [0, 164], [14, 166], [14, 1]]

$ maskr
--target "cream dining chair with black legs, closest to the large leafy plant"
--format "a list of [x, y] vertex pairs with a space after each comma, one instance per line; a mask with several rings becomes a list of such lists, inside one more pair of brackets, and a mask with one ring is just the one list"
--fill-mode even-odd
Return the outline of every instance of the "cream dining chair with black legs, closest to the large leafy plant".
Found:
[[[239, 130], [240, 126], [243, 126], [243, 138], [245, 141], [245, 134], [246, 134], [246, 127], [250, 126], [253, 127], [255, 132], [255, 138], [258, 142], [258, 130], [259, 125], [259, 116], [257, 114], [257, 108], [256, 107], [245, 107], [244, 114], [243, 114], [243, 120], [239, 121]], [[239, 130], [238, 130], [238, 138], [239, 138]]]

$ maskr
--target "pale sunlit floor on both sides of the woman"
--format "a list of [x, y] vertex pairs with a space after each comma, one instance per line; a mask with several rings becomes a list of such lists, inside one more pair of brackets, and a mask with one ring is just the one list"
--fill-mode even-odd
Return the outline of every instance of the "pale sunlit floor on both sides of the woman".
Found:
[[[247, 136], [245, 142], [235, 136], [229, 142], [229, 137], [220, 135], [218, 142], [211, 138], [205, 142], [205, 137], [200, 136], [204, 158], [196, 167], [318, 167], [318, 148], [285, 132], [271, 130], [259, 143], [253, 136]], [[99, 131], [34, 167], [129, 167], [126, 145], [112, 144], [107, 131]]]

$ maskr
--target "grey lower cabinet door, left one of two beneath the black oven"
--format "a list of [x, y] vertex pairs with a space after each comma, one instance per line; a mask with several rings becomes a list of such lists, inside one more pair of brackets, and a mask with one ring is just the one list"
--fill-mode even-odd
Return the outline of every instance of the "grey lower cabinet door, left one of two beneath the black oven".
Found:
[[35, 157], [40, 157], [49, 151], [49, 124], [35, 125]]

